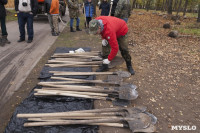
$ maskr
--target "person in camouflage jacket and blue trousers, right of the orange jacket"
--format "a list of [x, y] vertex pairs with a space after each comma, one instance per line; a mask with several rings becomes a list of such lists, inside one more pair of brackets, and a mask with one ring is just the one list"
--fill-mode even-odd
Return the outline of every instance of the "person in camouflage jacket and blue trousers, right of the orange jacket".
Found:
[[76, 19], [76, 31], [81, 31], [79, 28], [79, 4], [78, 0], [68, 0], [69, 17], [70, 17], [70, 32], [75, 32], [73, 29], [74, 18]]

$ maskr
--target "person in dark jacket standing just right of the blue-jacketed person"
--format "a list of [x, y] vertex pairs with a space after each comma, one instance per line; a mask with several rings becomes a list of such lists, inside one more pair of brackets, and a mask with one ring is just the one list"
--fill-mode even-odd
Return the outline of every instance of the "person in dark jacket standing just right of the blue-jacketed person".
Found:
[[108, 16], [110, 11], [110, 4], [107, 0], [103, 0], [103, 2], [99, 6], [99, 10], [101, 10], [101, 16]]

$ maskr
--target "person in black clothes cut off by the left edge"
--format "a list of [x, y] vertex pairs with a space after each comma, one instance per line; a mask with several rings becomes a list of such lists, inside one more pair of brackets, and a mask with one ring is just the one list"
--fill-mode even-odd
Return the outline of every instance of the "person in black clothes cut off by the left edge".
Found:
[[0, 40], [0, 46], [4, 46], [5, 44], [9, 44], [7, 36], [7, 29], [6, 29], [6, 9], [5, 6], [8, 3], [7, 0], [0, 0], [0, 22], [1, 22], [1, 30], [2, 30], [2, 38]]

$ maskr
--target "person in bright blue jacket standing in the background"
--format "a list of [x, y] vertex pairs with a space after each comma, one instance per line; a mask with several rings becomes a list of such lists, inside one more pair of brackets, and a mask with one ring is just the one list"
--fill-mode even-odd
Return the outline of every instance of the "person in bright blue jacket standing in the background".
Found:
[[[83, 13], [85, 13], [87, 28], [89, 28], [89, 22], [92, 20], [92, 17], [94, 16], [94, 5], [92, 3], [92, 0], [87, 0], [84, 3], [84, 6], [85, 7], [83, 10]], [[85, 24], [85, 27], [86, 27], [86, 24]]]

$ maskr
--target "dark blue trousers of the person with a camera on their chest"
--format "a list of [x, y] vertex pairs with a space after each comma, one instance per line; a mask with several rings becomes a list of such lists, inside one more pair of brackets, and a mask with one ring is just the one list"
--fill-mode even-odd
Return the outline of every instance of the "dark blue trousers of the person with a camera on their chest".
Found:
[[27, 23], [28, 40], [33, 40], [33, 14], [20, 12], [18, 13], [18, 24], [20, 39], [25, 39], [25, 24]]

